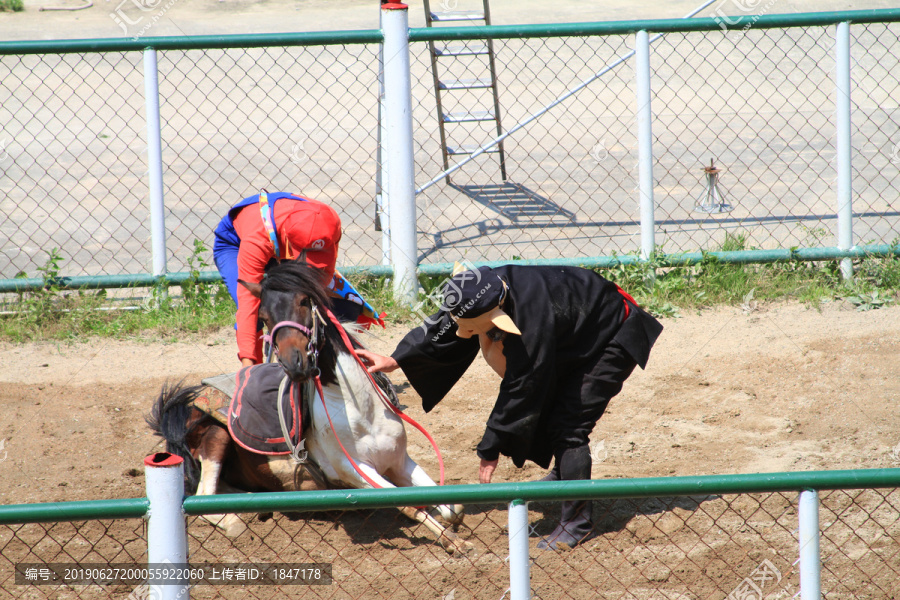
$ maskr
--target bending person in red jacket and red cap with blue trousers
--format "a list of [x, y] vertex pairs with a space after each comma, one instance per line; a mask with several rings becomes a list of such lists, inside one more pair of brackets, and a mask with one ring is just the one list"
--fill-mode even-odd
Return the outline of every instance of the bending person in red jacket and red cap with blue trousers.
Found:
[[341, 219], [327, 204], [286, 192], [244, 198], [215, 231], [213, 257], [237, 304], [238, 358], [242, 366], [263, 362], [259, 299], [238, 279], [259, 283], [269, 265], [304, 258], [322, 270], [322, 283], [333, 298], [333, 311], [344, 321], [363, 325], [384, 321], [335, 270]]

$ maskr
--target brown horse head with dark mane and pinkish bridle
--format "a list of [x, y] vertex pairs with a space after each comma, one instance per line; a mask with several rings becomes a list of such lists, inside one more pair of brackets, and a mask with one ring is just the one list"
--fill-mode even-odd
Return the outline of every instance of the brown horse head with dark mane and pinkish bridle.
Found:
[[322, 279], [322, 271], [305, 262], [283, 261], [269, 269], [262, 283], [240, 282], [259, 298], [259, 318], [269, 331], [271, 350], [296, 382], [334, 368], [326, 343], [330, 302]]

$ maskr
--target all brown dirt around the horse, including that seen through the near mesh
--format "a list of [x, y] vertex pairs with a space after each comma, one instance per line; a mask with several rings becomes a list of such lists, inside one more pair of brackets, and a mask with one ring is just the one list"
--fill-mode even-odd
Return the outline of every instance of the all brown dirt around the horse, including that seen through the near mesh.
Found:
[[[837, 301], [818, 309], [747, 309], [664, 320], [647, 370], [626, 383], [592, 435], [594, 478], [900, 465], [900, 307], [857, 312]], [[394, 326], [367, 339], [389, 352], [404, 332]], [[141, 461], [160, 449], [143, 417], [162, 383], [193, 383], [237, 366], [227, 329], [171, 343], [5, 344], [0, 356], [0, 504], [143, 496]], [[496, 393], [494, 373], [478, 359], [428, 415], [402, 376], [393, 379], [407, 412], [440, 444], [447, 482], [476, 482], [474, 447]], [[414, 432], [409, 451], [436, 476], [431, 450]], [[501, 460], [495, 481], [541, 474], [534, 465], [520, 470]], [[896, 491], [823, 493], [829, 597], [900, 594], [898, 506]], [[557, 514], [552, 503], [530, 505], [532, 546]], [[724, 597], [765, 560], [779, 573], [773, 594], [787, 594], [769, 598], [796, 591], [794, 494], [598, 502], [595, 515], [602, 535], [584, 551], [533, 550], [539, 597]], [[502, 506], [467, 507], [463, 535], [477, 551], [465, 558], [447, 557], [395, 511], [245, 520], [248, 532], [234, 541], [192, 520], [192, 561], [332, 562], [341, 585], [264, 586], [254, 597], [280, 590], [288, 597], [498, 598], [508, 581]], [[13, 526], [0, 528], [0, 547], [11, 562], [90, 556], [139, 563], [146, 560], [141, 527], [60, 524], [48, 536], [41, 526]], [[34, 598], [118, 598], [131, 591], [57, 594], [12, 586], [11, 573], [0, 571], [7, 571], [0, 573], [0, 598], [25, 591]], [[244, 598], [242, 590], [201, 586], [194, 595]]]

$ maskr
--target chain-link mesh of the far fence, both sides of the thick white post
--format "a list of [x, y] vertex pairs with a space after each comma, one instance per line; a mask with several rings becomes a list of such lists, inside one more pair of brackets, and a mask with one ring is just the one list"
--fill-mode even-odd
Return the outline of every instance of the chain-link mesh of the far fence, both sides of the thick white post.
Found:
[[[668, 22], [651, 44], [656, 243], [664, 251], [716, 249], [728, 232], [747, 247], [836, 245], [835, 27], [764, 28], [764, 20], [697, 32], [671, 31], [678, 25]], [[634, 48], [634, 35], [544, 29], [544, 37], [493, 40], [504, 131], [604, 74], [505, 140], [506, 181], [497, 155], [486, 153], [418, 195], [422, 263], [640, 248], [633, 59], [606, 69]], [[435, 45], [481, 43], [455, 31], [463, 39]], [[854, 243], [890, 244], [900, 233], [900, 25], [859, 23], [850, 32]], [[381, 263], [378, 44], [236, 44], [159, 51], [168, 270], [186, 270], [194, 239], [209, 249], [227, 208], [263, 187], [332, 203], [344, 227], [340, 263]], [[429, 45], [410, 47], [422, 185], [443, 165]], [[148, 273], [140, 52], [47, 49], [17, 54], [6, 44], [0, 56], [0, 279], [36, 276], [52, 248], [62, 275]], [[438, 64], [442, 77], [462, 79], [488, 68], [478, 53]], [[446, 93], [444, 111], [485, 108], [485, 93]], [[495, 136], [493, 121], [458, 124], [448, 144]], [[723, 169], [730, 212], [697, 210], [710, 159]]]

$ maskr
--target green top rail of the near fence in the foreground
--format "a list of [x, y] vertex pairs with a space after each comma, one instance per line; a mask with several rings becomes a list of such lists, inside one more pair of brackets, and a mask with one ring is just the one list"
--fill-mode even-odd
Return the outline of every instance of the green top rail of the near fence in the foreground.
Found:
[[[712, 494], [799, 492], [900, 488], [900, 469], [752, 473], [693, 477], [648, 477], [588, 481], [445, 485], [367, 490], [323, 490], [191, 496], [184, 499], [189, 515], [223, 512], [322, 511], [393, 508], [434, 504], [476, 504], [513, 500], [652, 498]], [[16, 504], [0, 506], [0, 525], [88, 519], [127, 519], [146, 515], [146, 498]]]

